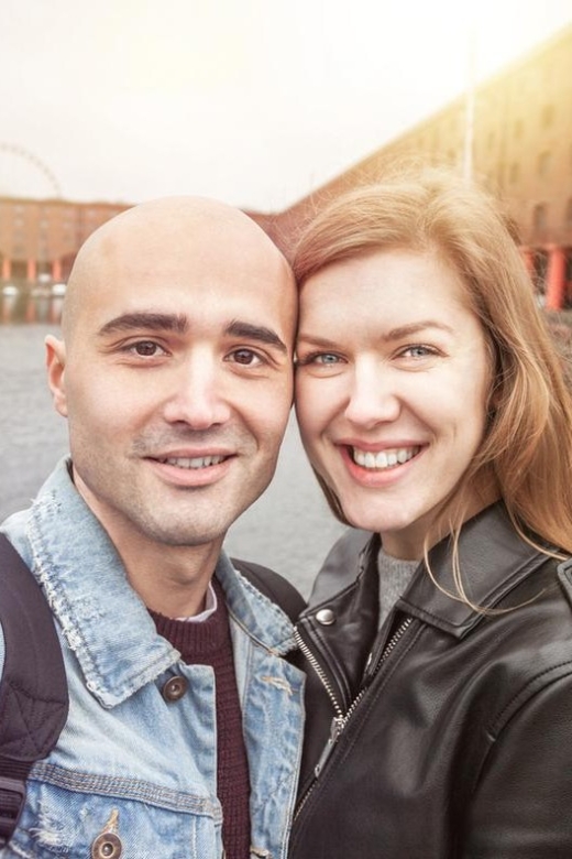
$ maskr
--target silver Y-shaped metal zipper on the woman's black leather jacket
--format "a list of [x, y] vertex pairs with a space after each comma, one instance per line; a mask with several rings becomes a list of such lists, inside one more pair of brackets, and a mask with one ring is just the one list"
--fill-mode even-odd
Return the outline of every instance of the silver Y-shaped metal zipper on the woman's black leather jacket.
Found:
[[375, 675], [377, 674], [377, 672], [382, 667], [383, 663], [392, 654], [392, 652], [394, 651], [395, 646], [397, 645], [397, 642], [404, 635], [404, 633], [406, 632], [408, 627], [411, 624], [411, 622], [413, 622], [413, 618], [407, 617], [407, 618], [404, 618], [402, 623], [397, 627], [397, 629], [393, 633], [392, 638], [389, 639], [389, 641], [387, 642], [387, 644], [383, 649], [383, 652], [382, 652], [380, 659], [377, 660], [377, 663], [376, 663], [375, 667], [373, 668], [373, 671], [371, 671], [369, 673], [366, 671], [366, 675], [365, 676], [366, 676], [367, 683], [366, 683], [366, 685], [362, 686], [362, 688], [358, 693], [356, 697], [353, 699], [352, 704], [350, 705], [350, 707], [349, 707], [348, 711], [345, 713], [345, 715], [343, 714], [343, 710], [342, 710], [342, 708], [340, 706], [340, 703], [338, 702], [338, 698], [336, 697], [336, 693], [333, 692], [332, 685], [331, 685], [330, 681], [328, 679], [328, 676], [326, 675], [326, 672], [323, 671], [323, 668], [321, 667], [320, 663], [318, 662], [318, 660], [316, 659], [314, 653], [310, 651], [310, 649], [308, 648], [306, 642], [302, 641], [301, 635], [298, 632], [298, 628], [297, 627], [295, 628], [294, 637], [295, 637], [296, 643], [298, 644], [300, 651], [306, 656], [306, 659], [308, 660], [308, 662], [312, 666], [314, 671], [316, 672], [316, 674], [320, 678], [320, 681], [321, 681], [326, 692], [328, 693], [328, 697], [330, 698], [330, 700], [331, 700], [331, 703], [333, 705], [333, 709], [336, 711], [336, 716], [333, 717], [331, 726], [330, 726], [330, 736], [328, 738], [328, 742], [326, 743], [326, 746], [323, 748], [323, 751], [320, 754], [318, 763], [314, 768], [315, 781], [310, 784], [310, 786], [308, 787], [308, 790], [306, 791], [306, 793], [301, 797], [300, 802], [298, 803], [298, 807], [296, 808], [295, 818], [300, 814], [301, 809], [306, 805], [306, 801], [308, 800], [309, 795], [311, 794], [311, 792], [312, 792], [312, 790], [314, 790], [314, 787], [316, 785], [316, 782], [317, 782], [320, 773], [322, 772], [322, 770], [323, 770], [323, 768], [326, 765], [326, 762], [328, 761], [330, 754], [332, 753], [333, 749], [336, 748], [336, 743], [338, 742], [342, 731], [345, 729], [348, 722], [350, 721], [351, 717], [353, 716], [353, 714], [355, 711], [355, 708], [358, 707], [358, 705], [360, 704], [361, 699], [363, 698], [363, 696], [367, 692], [371, 682], [373, 681], [373, 678], [375, 677]]

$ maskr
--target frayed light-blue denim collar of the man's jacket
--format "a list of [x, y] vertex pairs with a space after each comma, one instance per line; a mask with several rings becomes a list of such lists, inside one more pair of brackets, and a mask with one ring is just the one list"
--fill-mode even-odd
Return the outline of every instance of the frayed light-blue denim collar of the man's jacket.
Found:
[[[178, 661], [179, 653], [157, 635], [113, 544], [75, 489], [69, 460], [59, 463], [40, 491], [31, 508], [28, 539], [32, 568], [87, 687], [103, 707], [125, 700]], [[234, 622], [276, 653], [294, 646], [289, 620], [233, 569], [224, 554], [216, 575]]]

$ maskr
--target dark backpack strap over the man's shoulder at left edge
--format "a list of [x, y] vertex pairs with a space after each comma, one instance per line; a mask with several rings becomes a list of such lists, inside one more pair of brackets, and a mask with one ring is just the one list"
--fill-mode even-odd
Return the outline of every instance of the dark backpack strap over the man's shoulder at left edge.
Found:
[[12, 837], [32, 764], [54, 748], [67, 719], [67, 679], [44, 594], [0, 534], [0, 847]]

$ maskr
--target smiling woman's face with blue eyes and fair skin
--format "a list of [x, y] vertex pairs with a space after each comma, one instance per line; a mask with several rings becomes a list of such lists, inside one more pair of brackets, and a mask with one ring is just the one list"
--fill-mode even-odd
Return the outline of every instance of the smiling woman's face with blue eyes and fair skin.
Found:
[[[464, 295], [452, 268], [407, 250], [333, 263], [301, 290], [306, 450], [346, 519], [396, 557], [422, 556], [483, 438], [490, 361]], [[475, 489], [468, 501], [470, 514], [482, 505]]]

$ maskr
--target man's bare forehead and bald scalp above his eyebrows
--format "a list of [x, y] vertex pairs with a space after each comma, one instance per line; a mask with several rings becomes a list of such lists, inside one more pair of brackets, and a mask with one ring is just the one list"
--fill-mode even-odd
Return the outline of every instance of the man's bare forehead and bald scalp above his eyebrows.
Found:
[[270, 308], [284, 290], [294, 290], [286, 260], [251, 218], [200, 198], [157, 200], [123, 213], [88, 239], [74, 268], [69, 323], [84, 316], [81, 305], [101, 322], [102, 305], [113, 305], [105, 313], [108, 320], [140, 296], [143, 309], [155, 296], [161, 312], [173, 313], [179, 298], [227, 300], [227, 293], [238, 302], [260, 297]]

